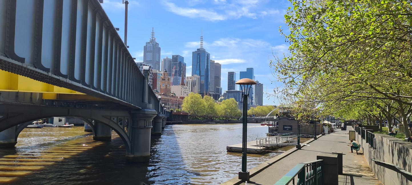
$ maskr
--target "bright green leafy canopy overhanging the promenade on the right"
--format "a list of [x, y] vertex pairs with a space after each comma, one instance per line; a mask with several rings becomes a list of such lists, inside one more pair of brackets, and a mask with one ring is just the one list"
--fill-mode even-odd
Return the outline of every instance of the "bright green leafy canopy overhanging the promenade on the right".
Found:
[[276, 55], [270, 65], [295, 117], [396, 118], [406, 127], [412, 112], [411, 2], [290, 2], [288, 31], [279, 30], [289, 54]]

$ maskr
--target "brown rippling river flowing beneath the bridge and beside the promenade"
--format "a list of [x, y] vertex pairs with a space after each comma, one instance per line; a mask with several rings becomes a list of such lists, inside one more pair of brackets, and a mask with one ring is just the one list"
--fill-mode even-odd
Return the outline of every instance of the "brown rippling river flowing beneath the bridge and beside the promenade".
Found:
[[[248, 124], [248, 141], [265, 137], [267, 126]], [[15, 149], [0, 149], [0, 183], [215, 185], [241, 169], [242, 124], [166, 125], [152, 136], [150, 162], [126, 161], [123, 141], [94, 141], [83, 127], [24, 129]], [[248, 154], [248, 169], [279, 153]]]

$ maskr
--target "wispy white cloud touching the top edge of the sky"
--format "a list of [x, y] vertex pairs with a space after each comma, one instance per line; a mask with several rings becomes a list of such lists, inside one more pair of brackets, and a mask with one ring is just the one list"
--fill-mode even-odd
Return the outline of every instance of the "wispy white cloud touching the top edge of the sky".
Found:
[[263, 18], [267, 15], [280, 15], [279, 10], [267, 9], [265, 6], [267, 2], [268, 0], [236, 0], [228, 3], [226, 0], [213, 0], [211, 4], [215, 5], [215, 7], [208, 7], [208, 9], [192, 7], [200, 4], [204, 7], [203, 4], [205, 4], [206, 1], [202, 0], [187, 1], [187, 5], [191, 7], [179, 7], [168, 0], [163, 0], [163, 5], [167, 11], [180, 16], [202, 18], [206, 21], [216, 22], [241, 17], [255, 19]]

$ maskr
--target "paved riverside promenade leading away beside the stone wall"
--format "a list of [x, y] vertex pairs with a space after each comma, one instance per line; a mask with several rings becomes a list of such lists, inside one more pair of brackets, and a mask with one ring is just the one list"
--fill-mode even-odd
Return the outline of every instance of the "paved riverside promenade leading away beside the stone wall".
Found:
[[[352, 127], [348, 126], [346, 130], [337, 130], [323, 136], [319, 135], [318, 139], [310, 139], [305, 142], [310, 146], [302, 145], [300, 150], [292, 148], [253, 169], [249, 169], [251, 178], [248, 184], [273, 185], [296, 164], [316, 160], [318, 153], [342, 152], [344, 175], [339, 175], [339, 185], [381, 185], [382, 183], [374, 177], [365, 157], [363, 157], [362, 150], [358, 151], [358, 155], [356, 155], [355, 150], [353, 150], [354, 153], [349, 153], [350, 147], [346, 146], [350, 143], [349, 130], [352, 130]], [[237, 176], [223, 183], [223, 185], [239, 184], [244, 185], [245, 183], [241, 183]]]

